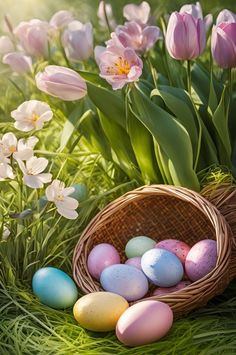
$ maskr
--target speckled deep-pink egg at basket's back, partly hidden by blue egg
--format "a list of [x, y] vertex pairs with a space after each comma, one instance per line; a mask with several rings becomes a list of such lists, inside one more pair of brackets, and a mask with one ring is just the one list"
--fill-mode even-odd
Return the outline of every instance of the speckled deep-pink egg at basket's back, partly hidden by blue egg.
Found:
[[158, 242], [155, 248], [166, 249], [173, 254], [175, 254], [181, 261], [182, 264], [185, 263], [186, 256], [191, 249], [191, 247], [177, 239], [165, 239]]

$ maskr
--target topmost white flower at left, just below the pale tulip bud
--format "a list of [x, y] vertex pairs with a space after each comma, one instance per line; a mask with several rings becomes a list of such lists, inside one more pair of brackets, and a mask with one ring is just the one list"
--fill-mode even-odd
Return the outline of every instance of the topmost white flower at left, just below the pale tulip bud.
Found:
[[16, 121], [15, 128], [23, 132], [41, 129], [44, 122], [50, 121], [52, 116], [50, 106], [46, 102], [38, 100], [25, 101], [11, 112], [11, 117]]

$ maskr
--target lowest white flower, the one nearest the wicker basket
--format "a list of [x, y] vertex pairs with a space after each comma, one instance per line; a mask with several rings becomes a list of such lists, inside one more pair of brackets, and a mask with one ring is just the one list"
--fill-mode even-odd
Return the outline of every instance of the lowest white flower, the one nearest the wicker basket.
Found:
[[68, 195], [75, 191], [74, 187], [66, 187], [62, 181], [53, 180], [51, 185], [46, 188], [46, 196], [48, 201], [54, 202], [57, 212], [65, 218], [76, 219], [78, 213], [75, 211], [79, 203]]

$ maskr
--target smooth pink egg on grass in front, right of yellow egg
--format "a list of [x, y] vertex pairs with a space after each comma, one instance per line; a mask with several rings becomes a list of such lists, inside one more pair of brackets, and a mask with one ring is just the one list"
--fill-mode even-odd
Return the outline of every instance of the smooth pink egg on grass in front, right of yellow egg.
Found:
[[161, 339], [173, 323], [171, 308], [158, 301], [143, 301], [128, 308], [116, 325], [116, 336], [127, 346], [139, 346]]

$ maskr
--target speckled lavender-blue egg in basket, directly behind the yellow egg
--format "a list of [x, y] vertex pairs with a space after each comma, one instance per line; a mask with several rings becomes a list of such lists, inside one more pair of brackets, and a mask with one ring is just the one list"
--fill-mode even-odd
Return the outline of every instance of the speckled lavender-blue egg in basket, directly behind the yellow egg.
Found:
[[148, 280], [134, 266], [117, 264], [103, 270], [100, 283], [104, 290], [117, 293], [127, 301], [136, 301], [148, 292]]

